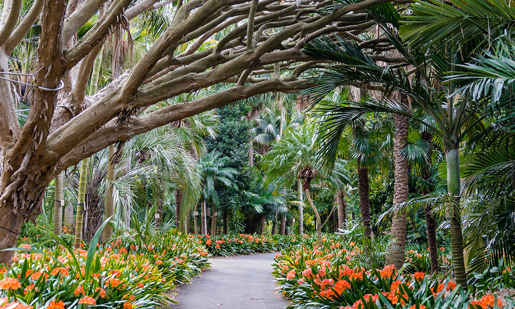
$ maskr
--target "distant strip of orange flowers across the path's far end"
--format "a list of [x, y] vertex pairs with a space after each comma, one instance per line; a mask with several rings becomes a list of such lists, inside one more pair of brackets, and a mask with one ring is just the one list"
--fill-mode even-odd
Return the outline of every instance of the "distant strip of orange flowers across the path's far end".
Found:
[[274, 252], [299, 244], [303, 236], [298, 235], [197, 235], [212, 256], [247, 255]]

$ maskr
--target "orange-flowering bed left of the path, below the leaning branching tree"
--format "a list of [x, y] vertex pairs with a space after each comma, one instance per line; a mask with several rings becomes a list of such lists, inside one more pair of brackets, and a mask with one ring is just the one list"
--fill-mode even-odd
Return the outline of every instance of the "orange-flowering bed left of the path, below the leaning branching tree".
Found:
[[165, 291], [208, 266], [208, 252], [188, 235], [169, 233], [145, 247], [126, 245], [17, 252], [12, 267], [0, 270], [0, 308], [151, 308], [171, 301]]

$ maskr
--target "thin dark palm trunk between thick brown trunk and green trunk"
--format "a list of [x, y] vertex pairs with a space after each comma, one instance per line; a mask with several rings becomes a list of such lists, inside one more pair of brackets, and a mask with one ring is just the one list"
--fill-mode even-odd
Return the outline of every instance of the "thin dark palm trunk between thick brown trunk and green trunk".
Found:
[[[431, 145], [431, 151], [429, 153], [429, 158], [432, 158], [432, 149], [433, 149], [433, 134], [431, 131], [423, 131], [420, 135], [421, 139], [424, 140], [428, 145]], [[431, 159], [430, 159], [431, 160]], [[430, 172], [431, 164], [427, 164], [422, 168], [422, 179], [425, 180], [426, 183], [430, 183], [431, 172]], [[433, 191], [433, 185], [430, 184], [428, 186], [422, 187], [422, 195], [426, 195]], [[431, 260], [431, 273], [435, 273], [440, 271], [440, 267], [438, 265], [438, 247], [436, 245], [436, 219], [432, 214], [433, 205], [428, 204], [424, 209], [425, 215], [425, 229], [427, 232], [427, 244], [429, 246], [429, 256]]]

